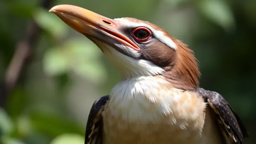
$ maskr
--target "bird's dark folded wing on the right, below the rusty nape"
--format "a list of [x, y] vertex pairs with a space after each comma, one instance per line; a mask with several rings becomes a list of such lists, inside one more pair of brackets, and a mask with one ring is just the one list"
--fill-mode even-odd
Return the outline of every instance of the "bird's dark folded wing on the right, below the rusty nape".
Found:
[[219, 93], [198, 88], [196, 90], [204, 101], [208, 102], [217, 116], [219, 128], [226, 143], [242, 144], [245, 137], [248, 137], [244, 124], [232, 110], [229, 103]]

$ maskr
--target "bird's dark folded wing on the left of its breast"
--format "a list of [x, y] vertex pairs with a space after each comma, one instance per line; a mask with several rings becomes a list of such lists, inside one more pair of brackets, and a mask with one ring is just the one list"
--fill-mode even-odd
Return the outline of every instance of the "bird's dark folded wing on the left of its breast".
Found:
[[109, 100], [109, 95], [97, 99], [91, 107], [85, 130], [85, 144], [102, 144], [102, 111]]

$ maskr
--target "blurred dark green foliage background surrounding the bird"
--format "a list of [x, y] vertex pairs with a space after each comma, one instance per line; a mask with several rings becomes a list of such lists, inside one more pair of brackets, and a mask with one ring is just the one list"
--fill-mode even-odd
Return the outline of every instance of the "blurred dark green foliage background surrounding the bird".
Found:
[[91, 105], [120, 80], [50, 7], [157, 24], [193, 49], [201, 87], [221, 93], [256, 143], [256, 0], [0, 0], [0, 142], [83, 144]]

